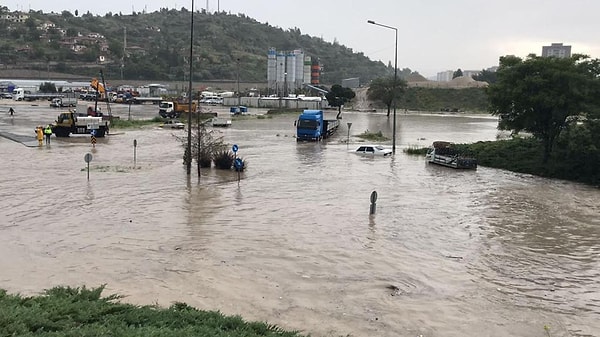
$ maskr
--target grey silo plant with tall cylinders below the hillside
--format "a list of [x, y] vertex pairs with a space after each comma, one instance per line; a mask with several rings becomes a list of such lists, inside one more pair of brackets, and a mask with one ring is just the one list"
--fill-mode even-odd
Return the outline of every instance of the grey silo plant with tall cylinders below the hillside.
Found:
[[270, 94], [288, 96], [305, 84], [318, 85], [320, 75], [318, 60], [300, 49], [290, 52], [270, 48], [267, 54], [267, 86]]

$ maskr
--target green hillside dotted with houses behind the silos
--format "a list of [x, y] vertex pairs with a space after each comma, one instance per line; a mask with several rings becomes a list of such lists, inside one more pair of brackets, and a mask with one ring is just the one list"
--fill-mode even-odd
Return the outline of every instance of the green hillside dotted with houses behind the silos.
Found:
[[[3, 12], [1, 12], [3, 11]], [[189, 77], [190, 12], [94, 16], [63, 11], [8, 13], [0, 6], [0, 65], [131, 80], [185, 80]], [[7, 19], [22, 15], [22, 22]], [[194, 13], [194, 79], [266, 81], [267, 52], [302, 49], [322, 66], [321, 83], [358, 77], [361, 83], [393, 69], [342, 44], [283, 30], [244, 15]], [[404, 69], [403, 72], [410, 69]], [[417, 74], [418, 75], [418, 74]]]

